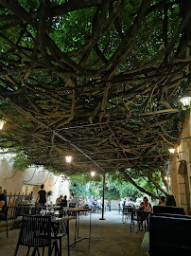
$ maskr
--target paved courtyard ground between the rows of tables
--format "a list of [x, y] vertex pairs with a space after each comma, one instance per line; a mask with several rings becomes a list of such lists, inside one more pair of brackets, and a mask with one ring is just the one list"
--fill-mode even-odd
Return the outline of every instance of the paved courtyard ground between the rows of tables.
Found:
[[[76, 247], [71, 247], [71, 256], [146, 256], [147, 250], [141, 247], [144, 233], [130, 234], [130, 221], [122, 224], [122, 216], [117, 211], [107, 211], [106, 220], [101, 221], [97, 213], [92, 214], [92, 238], [80, 241]], [[83, 216], [80, 222], [80, 235], [88, 234], [89, 216]], [[70, 242], [74, 240], [75, 220], [70, 223]], [[136, 227], [135, 227], [136, 230]], [[0, 233], [0, 256], [13, 256], [19, 229]], [[66, 238], [62, 239], [66, 245]], [[26, 247], [20, 247], [18, 256], [26, 256]], [[46, 255], [46, 254], [45, 254]], [[67, 247], [62, 247], [62, 255], [67, 255]]]

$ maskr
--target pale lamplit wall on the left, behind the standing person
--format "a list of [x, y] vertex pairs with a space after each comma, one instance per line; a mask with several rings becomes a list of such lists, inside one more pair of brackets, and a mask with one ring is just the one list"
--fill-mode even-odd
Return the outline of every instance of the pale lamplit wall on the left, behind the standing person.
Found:
[[7, 193], [21, 193], [23, 185], [39, 186], [44, 184], [46, 192], [52, 191], [53, 194], [48, 200], [53, 203], [61, 194], [69, 197], [69, 180], [64, 180], [62, 175], [56, 176], [43, 169], [43, 167], [29, 167], [25, 171], [19, 171], [12, 167], [12, 163], [3, 161], [3, 155], [0, 155], [0, 186]]

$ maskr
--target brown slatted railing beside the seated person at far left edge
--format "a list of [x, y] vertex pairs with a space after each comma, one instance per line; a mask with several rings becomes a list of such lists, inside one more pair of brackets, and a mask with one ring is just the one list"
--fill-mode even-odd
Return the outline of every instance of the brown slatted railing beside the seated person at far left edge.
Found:
[[[5, 192], [6, 193], [6, 192]], [[14, 220], [16, 217], [16, 208], [18, 205], [25, 205], [32, 199], [32, 193], [24, 194], [24, 193], [14, 193], [7, 194], [7, 204], [9, 206], [8, 210], [8, 220]]]

